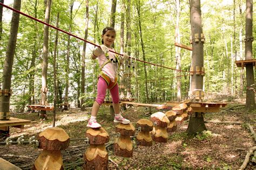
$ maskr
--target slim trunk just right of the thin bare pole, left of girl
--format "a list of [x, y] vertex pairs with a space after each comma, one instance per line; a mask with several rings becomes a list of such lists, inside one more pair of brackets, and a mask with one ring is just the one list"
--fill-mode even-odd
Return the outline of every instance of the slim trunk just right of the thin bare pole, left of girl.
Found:
[[[69, 32], [72, 30], [72, 13], [73, 13], [73, 4], [74, 2], [70, 4], [70, 18], [69, 18]], [[69, 95], [69, 58], [70, 58], [70, 35], [68, 35], [68, 46], [67, 46], [67, 52], [66, 52], [66, 88], [65, 88], [65, 99], [64, 104], [65, 108], [68, 109], [68, 95]]]

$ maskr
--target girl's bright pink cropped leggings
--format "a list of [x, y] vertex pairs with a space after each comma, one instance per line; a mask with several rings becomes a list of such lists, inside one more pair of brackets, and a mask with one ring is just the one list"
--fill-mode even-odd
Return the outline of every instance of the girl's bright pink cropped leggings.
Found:
[[[106, 97], [107, 83], [104, 78], [99, 77], [97, 85], [97, 98], [96, 101], [99, 105], [102, 105]], [[113, 103], [119, 103], [119, 90], [118, 84], [116, 84], [111, 90], [110, 94], [113, 100]]]

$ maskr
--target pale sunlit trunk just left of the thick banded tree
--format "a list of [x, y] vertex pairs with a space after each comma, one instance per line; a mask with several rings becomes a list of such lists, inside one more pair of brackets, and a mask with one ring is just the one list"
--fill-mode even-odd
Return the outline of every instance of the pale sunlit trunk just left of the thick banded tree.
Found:
[[[175, 42], [180, 43], [180, 33], [179, 33], [179, 16], [180, 16], [180, 0], [176, 0], [176, 26], [175, 26]], [[180, 47], [175, 47], [176, 53], [176, 70], [181, 70], [181, 57], [180, 57]], [[181, 101], [181, 77], [180, 71], [176, 71], [177, 78], [177, 101]]]

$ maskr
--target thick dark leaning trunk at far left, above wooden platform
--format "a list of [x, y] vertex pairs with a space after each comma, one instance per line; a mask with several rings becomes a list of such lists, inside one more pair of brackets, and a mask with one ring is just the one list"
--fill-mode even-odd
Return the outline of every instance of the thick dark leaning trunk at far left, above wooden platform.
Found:
[[[21, 10], [21, 0], [14, 1], [14, 9]], [[11, 74], [12, 65], [14, 63], [18, 28], [19, 13], [12, 12], [10, 35], [3, 67], [3, 91], [6, 93], [2, 93], [2, 99], [0, 100], [0, 112], [3, 113], [4, 120], [8, 120], [10, 118]]]

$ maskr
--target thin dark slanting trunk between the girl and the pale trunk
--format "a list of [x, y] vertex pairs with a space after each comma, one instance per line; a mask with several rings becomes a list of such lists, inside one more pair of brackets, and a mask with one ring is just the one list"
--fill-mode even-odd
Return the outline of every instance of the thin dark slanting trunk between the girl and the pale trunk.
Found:
[[[137, 12], [138, 12], [138, 22], [139, 22], [139, 36], [140, 36], [140, 45], [142, 45], [142, 55], [143, 60], [146, 61], [146, 55], [145, 55], [145, 47], [143, 43], [143, 36], [142, 36], [142, 23], [140, 21], [140, 0], [138, 0], [137, 4]], [[145, 89], [146, 89], [146, 103], [151, 103], [149, 98], [149, 90], [147, 89], [147, 70], [146, 70], [146, 63], [143, 63], [144, 66], [144, 73], [145, 73]], [[151, 114], [151, 107], [149, 107], [149, 113]]]

